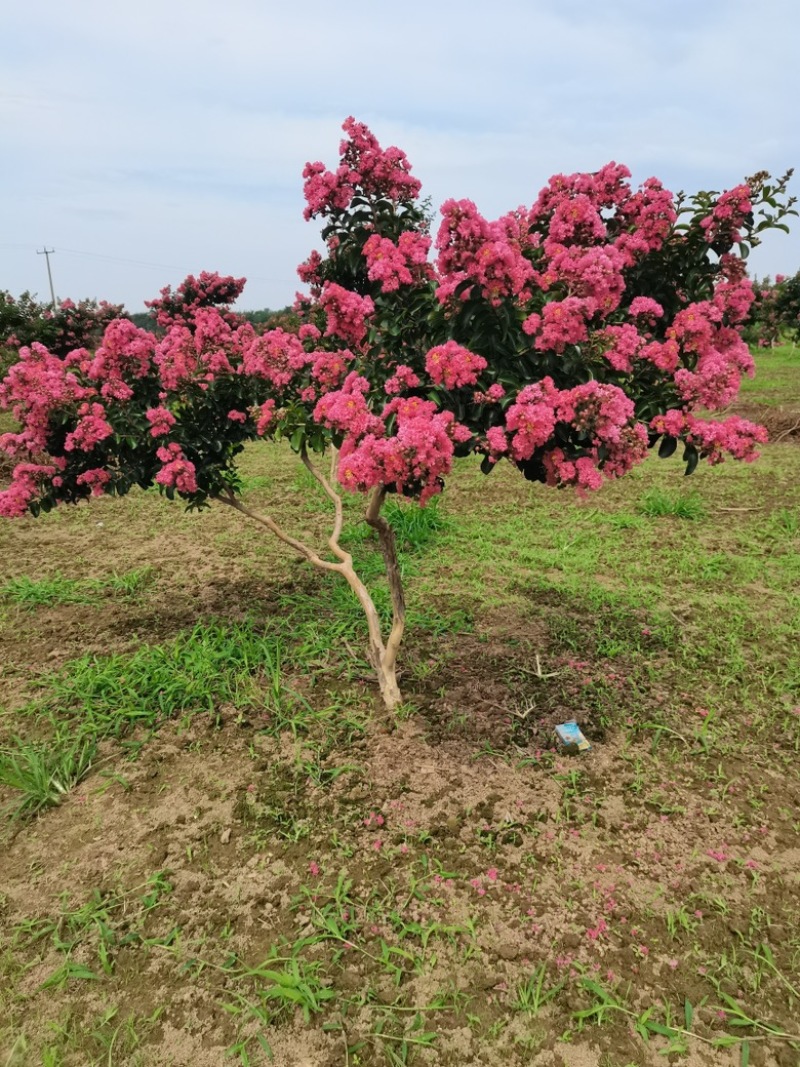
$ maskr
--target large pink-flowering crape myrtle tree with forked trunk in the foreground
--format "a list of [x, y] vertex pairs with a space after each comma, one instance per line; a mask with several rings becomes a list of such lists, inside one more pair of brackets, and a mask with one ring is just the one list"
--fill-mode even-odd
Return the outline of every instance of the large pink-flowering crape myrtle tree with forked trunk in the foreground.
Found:
[[[752, 460], [764, 430], [708, 413], [753, 371], [743, 257], [791, 201], [766, 174], [686, 198], [655, 178], [634, 188], [609, 163], [551, 178], [494, 222], [449, 200], [434, 241], [405, 155], [352, 118], [343, 128], [337, 169], [304, 171], [325, 252], [300, 268], [302, 324], [259, 335], [198, 304], [188, 280], [180, 299], [162, 292], [160, 338], [118, 320], [94, 352], [32, 345], [0, 386], [21, 426], [0, 439], [19, 460], [0, 514], [154, 482], [190, 508], [236, 509], [349, 583], [391, 708], [405, 609], [386, 495], [423, 506], [466, 456], [580, 493], [657, 443], [663, 457], [681, 445], [687, 473]], [[209, 275], [204, 291], [233, 298], [240, 282]], [[330, 498], [324, 550], [242, 500], [237, 459], [260, 439], [287, 440]], [[340, 543], [343, 492], [364, 495], [378, 534], [388, 632]]]

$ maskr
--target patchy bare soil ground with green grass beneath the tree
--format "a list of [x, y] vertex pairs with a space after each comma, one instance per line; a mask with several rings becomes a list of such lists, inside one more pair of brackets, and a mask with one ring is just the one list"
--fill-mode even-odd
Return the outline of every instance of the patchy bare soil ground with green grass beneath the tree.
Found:
[[[3, 524], [0, 1063], [796, 1064], [799, 464], [393, 499], [390, 732], [357, 601], [229, 509]], [[240, 469], [323, 535], [287, 444]]]

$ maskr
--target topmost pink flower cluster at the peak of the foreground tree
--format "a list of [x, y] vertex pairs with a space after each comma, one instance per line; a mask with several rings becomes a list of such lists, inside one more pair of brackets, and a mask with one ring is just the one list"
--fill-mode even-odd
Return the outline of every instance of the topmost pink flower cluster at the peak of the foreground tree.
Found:
[[339, 145], [337, 170], [329, 171], [319, 162], [306, 163], [303, 170], [304, 218], [345, 210], [357, 190], [399, 204], [416, 200], [420, 182], [412, 177], [404, 152], [394, 145], [384, 150], [367, 126], [353, 117], [345, 121], [342, 129], [348, 136]]

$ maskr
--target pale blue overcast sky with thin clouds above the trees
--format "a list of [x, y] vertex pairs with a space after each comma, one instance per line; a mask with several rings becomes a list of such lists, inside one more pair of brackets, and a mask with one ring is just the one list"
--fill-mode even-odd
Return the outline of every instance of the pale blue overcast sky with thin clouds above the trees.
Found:
[[[0, 32], [0, 289], [141, 310], [202, 270], [281, 307], [319, 246], [306, 160], [342, 121], [434, 206], [489, 218], [550, 174], [723, 189], [800, 164], [798, 0], [30, 0]], [[800, 171], [793, 182], [800, 192]], [[800, 269], [800, 220], [752, 258]]]

